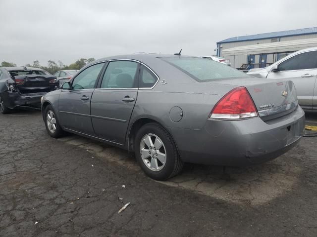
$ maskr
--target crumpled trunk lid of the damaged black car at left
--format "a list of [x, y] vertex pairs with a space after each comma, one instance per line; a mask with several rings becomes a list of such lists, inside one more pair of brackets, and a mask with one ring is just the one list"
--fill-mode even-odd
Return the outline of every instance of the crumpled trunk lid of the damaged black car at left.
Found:
[[58, 85], [52, 75], [20, 75], [15, 76], [16, 86], [23, 94], [50, 92]]

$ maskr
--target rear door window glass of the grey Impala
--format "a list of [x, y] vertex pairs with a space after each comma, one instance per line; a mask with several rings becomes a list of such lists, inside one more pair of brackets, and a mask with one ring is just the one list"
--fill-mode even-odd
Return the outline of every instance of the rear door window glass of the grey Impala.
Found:
[[138, 87], [139, 64], [132, 61], [109, 62], [100, 88]]

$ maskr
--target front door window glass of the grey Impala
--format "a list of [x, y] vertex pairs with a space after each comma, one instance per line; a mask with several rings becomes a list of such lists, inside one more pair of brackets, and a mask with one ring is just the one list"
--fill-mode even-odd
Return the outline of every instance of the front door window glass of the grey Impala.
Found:
[[72, 82], [73, 89], [93, 89], [105, 63], [95, 64], [82, 71]]

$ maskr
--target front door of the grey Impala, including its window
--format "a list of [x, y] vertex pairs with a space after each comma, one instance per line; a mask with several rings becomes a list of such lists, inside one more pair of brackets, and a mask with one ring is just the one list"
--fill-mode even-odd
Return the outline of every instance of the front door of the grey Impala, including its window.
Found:
[[96, 81], [105, 63], [95, 64], [72, 80], [72, 88], [59, 96], [58, 113], [61, 125], [76, 132], [95, 135], [90, 115], [90, 102]]

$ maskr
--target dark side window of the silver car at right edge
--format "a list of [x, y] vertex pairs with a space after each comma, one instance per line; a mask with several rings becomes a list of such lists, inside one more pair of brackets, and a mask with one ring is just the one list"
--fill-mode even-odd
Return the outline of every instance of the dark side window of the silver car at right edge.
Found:
[[297, 54], [278, 65], [279, 71], [317, 68], [317, 51]]

